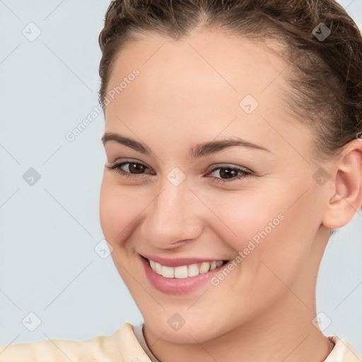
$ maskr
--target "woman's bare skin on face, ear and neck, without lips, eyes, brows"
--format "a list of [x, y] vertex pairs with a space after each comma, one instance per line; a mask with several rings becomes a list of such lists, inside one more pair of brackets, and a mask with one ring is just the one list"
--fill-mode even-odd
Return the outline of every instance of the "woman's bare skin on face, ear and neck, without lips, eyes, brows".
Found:
[[[317, 163], [313, 130], [279, 101], [286, 65], [261, 45], [212, 30], [181, 41], [144, 35], [117, 56], [108, 90], [134, 68], [140, 74], [106, 106], [105, 132], [152, 152], [105, 142], [100, 220], [160, 361], [317, 362], [333, 348], [312, 323], [315, 284], [330, 229], [346, 225], [362, 202], [362, 142]], [[239, 106], [245, 95], [259, 103], [250, 115]], [[189, 155], [236, 136], [269, 152], [234, 146]], [[144, 174], [107, 168], [129, 159], [146, 165]], [[252, 176], [218, 182], [225, 176], [212, 169], [220, 163]], [[175, 167], [186, 176], [178, 186], [167, 178]], [[330, 175], [322, 186], [313, 178], [320, 167]], [[170, 296], [140, 265], [138, 254], [233, 259], [279, 214], [284, 220], [218, 286]], [[168, 325], [174, 313], [185, 320], [177, 331]]]

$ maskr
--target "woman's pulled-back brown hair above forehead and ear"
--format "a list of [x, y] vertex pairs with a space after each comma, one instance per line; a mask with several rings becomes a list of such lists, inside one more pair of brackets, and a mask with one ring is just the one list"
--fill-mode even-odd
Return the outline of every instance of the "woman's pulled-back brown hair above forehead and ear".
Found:
[[[325, 39], [317, 37], [320, 23], [330, 30]], [[362, 141], [362, 37], [334, 0], [112, 1], [99, 36], [103, 109], [112, 64], [126, 42], [152, 33], [179, 40], [207, 28], [284, 45], [277, 52], [290, 65], [286, 112], [314, 127], [317, 159], [338, 155], [356, 137]]]

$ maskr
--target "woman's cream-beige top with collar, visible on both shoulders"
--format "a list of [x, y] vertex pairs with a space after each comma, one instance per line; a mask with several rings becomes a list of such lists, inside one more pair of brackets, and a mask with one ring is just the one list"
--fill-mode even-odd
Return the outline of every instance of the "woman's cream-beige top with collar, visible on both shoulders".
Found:
[[[136, 334], [135, 334], [136, 332]], [[0, 347], [0, 362], [155, 362], [147, 348], [141, 326], [125, 323], [112, 336], [98, 336], [84, 341], [45, 339], [43, 341], [10, 344]], [[139, 339], [137, 339], [137, 337]], [[356, 349], [338, 337], [325, 362], [362, 362]]]

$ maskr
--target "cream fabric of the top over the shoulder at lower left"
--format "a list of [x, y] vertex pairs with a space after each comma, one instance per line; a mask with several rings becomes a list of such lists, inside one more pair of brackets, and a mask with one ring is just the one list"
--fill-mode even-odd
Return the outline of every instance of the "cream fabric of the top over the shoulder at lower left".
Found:
[[0, 346], [0, 362], [124, 362], [132, 348], [137, 349], [137, 340], [132, 325], [125, 323], [112, 336], [101, 335], [83, 341], [45, 339]]

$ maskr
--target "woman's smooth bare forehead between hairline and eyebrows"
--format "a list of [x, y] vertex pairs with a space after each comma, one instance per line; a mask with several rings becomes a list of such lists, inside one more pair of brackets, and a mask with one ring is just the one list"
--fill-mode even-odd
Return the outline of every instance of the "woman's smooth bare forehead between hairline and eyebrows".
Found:
[[[288, 127], [281, 102], [288, 90], [287, 67], [262, 42], [217, 31], [177, 41], [145, 36], [129, 42], [115, 59], [107, 91], [125, 81], [106, 106], [107, 132], [122, 128], [122, 119], [142, 136], [146, 127], [165, 139], [201, 134], [205, 139], [195, 136], [195, 142], [210, 141], [223, 133], [280, 143], [280, 134], [267, 123], [276, 129]], [[139, 75], [129, 77], [134, 69]], [[245, 112], [243, 100], [255, 111]], [[294, 129], [299, 127], [293, 122]]]

